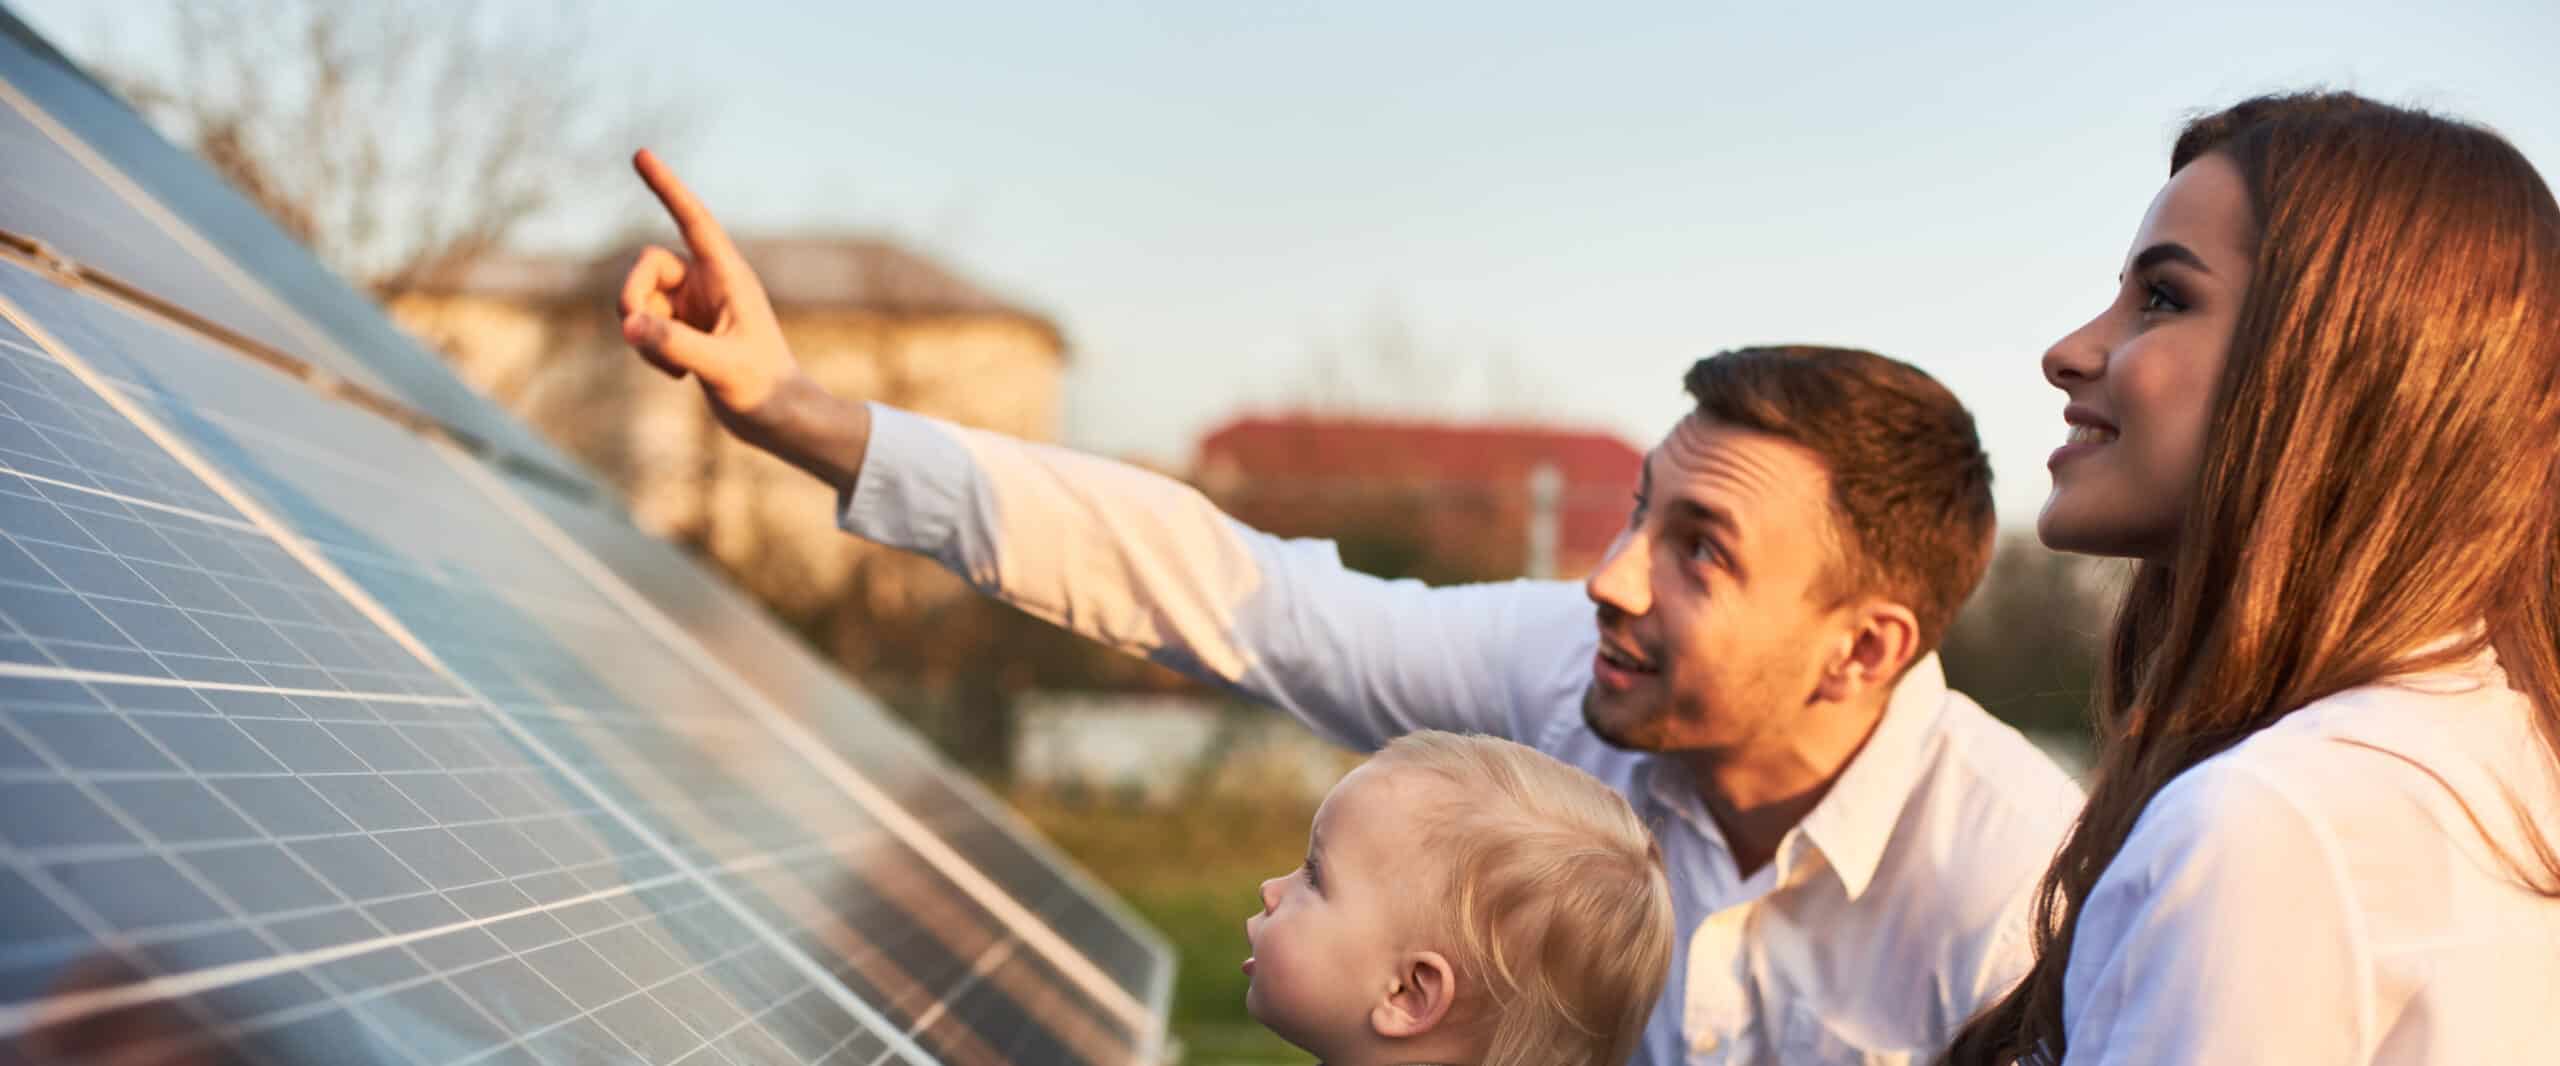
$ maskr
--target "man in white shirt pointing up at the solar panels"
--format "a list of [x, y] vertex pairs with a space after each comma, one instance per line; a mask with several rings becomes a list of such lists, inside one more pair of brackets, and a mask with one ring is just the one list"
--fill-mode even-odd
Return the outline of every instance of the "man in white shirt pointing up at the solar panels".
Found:
[[691, 261], [640, 256], [625, 338], [837, 487], [847, 530], [1339, 743], [1492, 733], [1626, 794], [1679, 928], [1636, 1061], [1925, 1061], [2025, 971], [2033, 884], [2081, 797], [1938, 669], [1987, 566], [1992, 474], [1928, 374], [1843, 348], [1705, 359], [1585, 589], [1382, 582], [1178, 482], [829, 397], [701, 202], [637, 167]]

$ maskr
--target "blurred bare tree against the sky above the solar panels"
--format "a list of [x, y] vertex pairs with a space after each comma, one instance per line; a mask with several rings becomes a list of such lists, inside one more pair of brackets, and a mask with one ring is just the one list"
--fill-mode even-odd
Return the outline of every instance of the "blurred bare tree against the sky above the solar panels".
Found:
[[[172, 0], [172, 62], [100, 67], [340, 274], [376, 297], [445, 284], [686, 126], [607, 92], [599, 8], [381, 0]], [[645, 218], [617, 195], [609, 233]]]

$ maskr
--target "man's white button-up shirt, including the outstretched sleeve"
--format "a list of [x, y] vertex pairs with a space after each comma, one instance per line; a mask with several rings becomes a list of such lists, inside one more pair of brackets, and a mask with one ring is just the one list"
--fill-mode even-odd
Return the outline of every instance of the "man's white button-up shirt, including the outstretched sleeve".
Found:
[[1682, 930], [1638, 1063], [1928, 1061], [2025, 971], [2030, 894], [2081, 802], [1930, 656], [1741, 876], [1679, 761], [1582, 725], [1597, 628], [1580, 584], [1385, 582], [1180, 482], [878, 405], [840, 523], [1336, 743], [1492, 733], [1615, 787], [1661, 840]]

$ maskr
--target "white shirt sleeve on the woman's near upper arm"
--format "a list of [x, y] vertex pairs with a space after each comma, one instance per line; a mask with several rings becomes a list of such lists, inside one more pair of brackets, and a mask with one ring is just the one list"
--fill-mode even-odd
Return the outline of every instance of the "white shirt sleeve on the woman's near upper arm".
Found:
[[2371, 989], [2327, 825], [2245, 764], [2202, 764], [2081, 907], [2063, 1066], [2368, 1063]]

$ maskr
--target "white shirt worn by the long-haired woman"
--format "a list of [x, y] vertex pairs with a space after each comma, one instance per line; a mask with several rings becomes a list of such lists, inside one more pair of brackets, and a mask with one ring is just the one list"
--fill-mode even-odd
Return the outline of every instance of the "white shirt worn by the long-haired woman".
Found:
[[2550, 876], [2519, 823], [2560, 846], [2529, 715], [2483, 656], [2171, 779], [2081, 910], [2063, 1063], [2560, 1063], [2560, 899], [2491, 846]]

